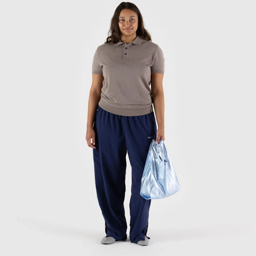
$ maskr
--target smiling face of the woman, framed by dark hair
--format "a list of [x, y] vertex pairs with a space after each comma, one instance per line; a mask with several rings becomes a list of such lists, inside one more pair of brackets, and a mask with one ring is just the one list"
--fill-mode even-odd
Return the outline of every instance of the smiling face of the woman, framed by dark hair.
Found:
[[138, 28], [137, 13], [131, 9], [122, 9], [118, 24], [122, 35], [135, 37]]

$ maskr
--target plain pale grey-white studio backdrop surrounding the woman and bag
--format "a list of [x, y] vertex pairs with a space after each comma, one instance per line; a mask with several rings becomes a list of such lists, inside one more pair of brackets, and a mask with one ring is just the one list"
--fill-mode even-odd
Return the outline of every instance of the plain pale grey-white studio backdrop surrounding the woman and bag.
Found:
[[[181, 190], [151, 201], [149, 246], [100, 243], [88, 93], [120, 3], [1, 2], [1, 255], [256, 255], [247, 0], [133, 2], [164, 52], [165, 145]], [[127, 235], [130, 186], [127, 157]]]

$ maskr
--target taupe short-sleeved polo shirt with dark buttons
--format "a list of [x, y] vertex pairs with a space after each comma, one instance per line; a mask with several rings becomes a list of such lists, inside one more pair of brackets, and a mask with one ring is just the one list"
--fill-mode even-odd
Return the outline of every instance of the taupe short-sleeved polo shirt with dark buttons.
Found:
[[104, 76], [99, 106], [116, 115], [140, 116], [152, 112], [151, 72], [164, 73], [164, 55], [151, 40], [139, 36], [97, 47], [92, 74]]

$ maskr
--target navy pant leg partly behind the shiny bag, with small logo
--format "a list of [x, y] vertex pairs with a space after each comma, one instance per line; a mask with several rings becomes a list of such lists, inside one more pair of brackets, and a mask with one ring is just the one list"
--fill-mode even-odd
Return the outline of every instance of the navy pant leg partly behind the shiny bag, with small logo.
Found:
[[141, 116], [124, 118], [126, 147], [132, 168], [130, 198], [130, 240], [137, 243], [145, 240], [151, 200], [140, 195], [141, 178], [146, 163], [147, 152], [152, 139], [156, 139], [154, 111]]

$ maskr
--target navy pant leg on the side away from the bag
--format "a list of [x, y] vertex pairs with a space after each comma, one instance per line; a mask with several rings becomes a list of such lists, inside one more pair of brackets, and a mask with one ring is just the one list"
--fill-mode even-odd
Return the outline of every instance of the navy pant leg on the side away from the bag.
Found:
[[127, 150], [121, 116], [98, 105], [93, 129], [95, 184], [105, 232], [107, 236], [123, 240], [127, 238], [124, 209]]

